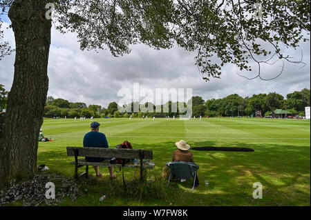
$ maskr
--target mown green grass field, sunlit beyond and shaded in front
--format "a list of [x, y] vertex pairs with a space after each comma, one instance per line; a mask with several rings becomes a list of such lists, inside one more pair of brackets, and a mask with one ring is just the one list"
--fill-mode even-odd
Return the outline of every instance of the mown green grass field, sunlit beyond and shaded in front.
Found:
[[[135, 149], [153, 150], [156, 168], [147, 173], [156, 184], [145, 188], [144, 197], [122, 192], [122, 174], [109, 180], [104, 177], [81, 181], [85, 190], [69, 206], [310, 206], [310, 121], [287, 119], [210, 118], [179, 121], [156, 119], [96, 119], [102, 125], [109, 146], [127, 140]], [[90, 121], [45, 119], [46, 137], [56, 141], [39, 143], [38, 165], [73, 177], [73, 157], [66, 156], [66, 146], [82, 146]], [[172, 182], [169, 187], [160, 173], [171, 161], [174, 143], [184, 139], [191, 147], [225, 146], [253, 148], [254, 152], [195, 151], [200, 166], [200, 186], [190, 191], [192, 181]], [[83, 168], [79, 170], [82, 172]], [[94, 176], [93, 168], [91, 176]], [[126, 180], [133, 179], [133, 170], [126, 170]], [[209, 181], [205, 186], [204, 181]], [[263, 199], [253, 199], [253, 183], [263, 185]], [[115, 192], [117, 191], [117, 192]], [[99, 198], [107, 198], [100, 202]]]

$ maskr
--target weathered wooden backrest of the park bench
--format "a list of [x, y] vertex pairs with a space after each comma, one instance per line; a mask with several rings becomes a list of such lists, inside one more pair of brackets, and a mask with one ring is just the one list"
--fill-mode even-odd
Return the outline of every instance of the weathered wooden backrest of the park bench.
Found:
[[78, 150], [79, 157], [115, 157], [121, 159], [139, 159], [140, 151], [143, 151], [144, 159], [153, 159], [152, 150], [139, 149], [67, 147], [67, 155], [75, 156], [75, 149]]

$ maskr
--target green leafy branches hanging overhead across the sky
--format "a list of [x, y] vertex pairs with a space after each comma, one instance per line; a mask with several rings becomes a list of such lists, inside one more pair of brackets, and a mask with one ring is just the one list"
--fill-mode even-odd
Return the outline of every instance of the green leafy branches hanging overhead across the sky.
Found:
[[197, 53], [205, 80], [220, 78], [225, 63], [241, 72], [255, 63], [257, 75], [247, 79], [263, 79], [262, 63], [303, 63], [282, 48], [296, 49], [310, 34], [307, 0], [55, 0], [55, 9], [55, 26], [77, 32], [82, 50], [109, 49], [117, 57], [136, 43], [157, 50], [178, 45]]

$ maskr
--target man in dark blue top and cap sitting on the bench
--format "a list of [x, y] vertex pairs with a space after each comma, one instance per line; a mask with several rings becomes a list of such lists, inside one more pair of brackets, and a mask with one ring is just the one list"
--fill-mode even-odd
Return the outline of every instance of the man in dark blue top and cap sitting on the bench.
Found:
[[[100, 130], [100, 123], [98, 122], [92, 122], [91, 123], [91, 132], [88, 132], [84, 135], [83, 139], [83, 146], [84, 148], [109, 148], [108, 141], [106, 139], [106, 135], [98, 132]], [[110, 158], [104, 158], [104, 157], [85, 157], [85, 160], [88, 162], [101, 162], [106, 159]], [[102, 174], [99, 171], [98, 166], [93, 166], [96, 177], [102, 177]], [[113, 167], [108, 167], [108, 170], [110, 172], [110, 179], [115, 179], [116, 175], [113, 174]]]

